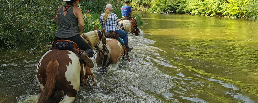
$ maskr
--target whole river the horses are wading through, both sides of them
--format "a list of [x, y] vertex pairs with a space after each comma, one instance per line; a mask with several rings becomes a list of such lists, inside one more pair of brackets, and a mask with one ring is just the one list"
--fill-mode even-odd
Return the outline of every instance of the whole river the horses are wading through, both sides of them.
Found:
[[[96, 85], [75, 102], [258, 102], [257, 21], [147, 13], [143, 22], [128, 37], [132, 62], [92, 68]], [[0, 55], [0, 102], [37, 101], [40, 57]]]

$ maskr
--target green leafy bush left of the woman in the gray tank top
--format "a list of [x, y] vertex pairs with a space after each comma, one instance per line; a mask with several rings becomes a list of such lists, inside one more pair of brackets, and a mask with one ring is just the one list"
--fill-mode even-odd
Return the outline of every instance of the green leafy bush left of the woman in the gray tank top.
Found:
[[14, 52], [22, 45], [35, 54], [51, 45], [56, 32], [55, 11], [60, 1], [15, 0], [1, 3], [1, 51]]

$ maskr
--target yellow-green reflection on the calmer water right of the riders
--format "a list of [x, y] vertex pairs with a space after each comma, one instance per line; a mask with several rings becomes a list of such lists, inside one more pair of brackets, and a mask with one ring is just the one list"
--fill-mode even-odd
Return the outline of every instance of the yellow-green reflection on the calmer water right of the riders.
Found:
[[180, 14], [146, 18], [144, 37], [177, 67], [159, 67], [174, 79], [175, 99], [258, 102], [257, 22]]

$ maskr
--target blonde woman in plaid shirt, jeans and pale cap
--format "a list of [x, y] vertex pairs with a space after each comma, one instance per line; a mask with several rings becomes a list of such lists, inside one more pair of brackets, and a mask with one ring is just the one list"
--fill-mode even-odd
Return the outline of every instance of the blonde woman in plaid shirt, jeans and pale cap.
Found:
[[112, 13], [113, 8], [111, 4], [107, 4], [105, 8], [105, 13], [100, 15], [100, 24], [102, 28], [107, 28], [105, 32], [115, 31], [121, 37], [127, 48], [127, 52], [131, 51], [133, 48], [129, 48], [128, 37], [126, 31], [118, 28], [119, 21], [116, 14]]

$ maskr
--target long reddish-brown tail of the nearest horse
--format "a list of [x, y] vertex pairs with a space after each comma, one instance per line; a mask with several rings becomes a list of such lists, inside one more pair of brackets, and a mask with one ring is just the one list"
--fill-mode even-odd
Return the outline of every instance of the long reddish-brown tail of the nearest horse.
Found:
[[55, 82], [58, 77], [59, 71], [59, 63], [57, 60], [51, 59], [49, 63], [47, 63], [46, 68], [46, 80], [45, 86], [38, 97], [38, 103], [46, 103], [49, 100], [49, 97], [52, 95], [55, 89]]

